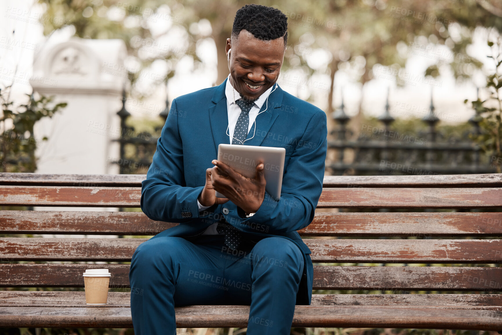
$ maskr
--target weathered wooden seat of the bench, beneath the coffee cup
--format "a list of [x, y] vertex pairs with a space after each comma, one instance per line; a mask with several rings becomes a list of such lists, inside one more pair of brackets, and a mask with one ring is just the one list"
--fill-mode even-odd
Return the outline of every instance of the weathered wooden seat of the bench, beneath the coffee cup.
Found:
[[[7, 293], [0, 294], [2, 327], [132, 327], [129, 292], [109, 292], [108, 304], [99, 307], [85, 305], [84, 292], [1, 293]], [[293, 326], [502, 329], [498, 294], [462, 294], [460, 301], [453, 297], [459, 294], [390, 295], [314, 294], [311, 305], [296, 306]], [[248, 315], [249, 306], [241, 305], [176, 307], [182, 328], [245, 327]]]

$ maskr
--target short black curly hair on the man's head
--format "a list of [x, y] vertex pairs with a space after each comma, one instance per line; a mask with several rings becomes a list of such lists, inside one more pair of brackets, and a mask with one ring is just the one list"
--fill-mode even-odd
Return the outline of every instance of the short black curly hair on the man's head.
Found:
[[284, 47], [286, 47], [288, 17], [276, 8], [256, 4], [245, 5], [235, 14], [231, 36], [236, 39], [242, 29], [265, 41], [284, 36]]

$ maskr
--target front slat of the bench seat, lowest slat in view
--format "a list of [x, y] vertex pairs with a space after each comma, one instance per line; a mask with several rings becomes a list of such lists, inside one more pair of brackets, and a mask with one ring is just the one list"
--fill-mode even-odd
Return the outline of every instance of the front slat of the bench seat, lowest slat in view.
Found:
[[[502, 329], [502, 311], [489, 309], [493, 308], [296, 306], [292, 326]], [[186, 306], [175, 310], [177, 327], [245, 327], [249, 318], [249, 306]], [[0, 314], [3, 327], [132, 328], [131, 309], [123, 307], [0, 307]]]

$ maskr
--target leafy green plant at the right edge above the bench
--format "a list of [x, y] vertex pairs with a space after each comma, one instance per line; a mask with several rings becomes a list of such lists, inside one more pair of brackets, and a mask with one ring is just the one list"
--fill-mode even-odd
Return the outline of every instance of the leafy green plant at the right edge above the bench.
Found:
[[[486, 87], [488, 97], [482, 100], [479, 95], [477, 100], [471, 101], [476, 115], [475, 121], [479, 122], [479, 126], [483, 132], [479, 135], [474, 135], [472, 138], [479, 144], [481, 149], [495, 158], [502, 157], [502, 96], [500, 89], [502, 88], [502, 39], [500, 36], [495, 38], [495, 41], [488, 41], [488, 47], [491, 48], [491, 58], [494, 63], [493, 73], [486, 77]], [[467, 99], [464, 100], [468, 102]], [[502, 172], [502, 166], [496, 165], [498, 172]]]

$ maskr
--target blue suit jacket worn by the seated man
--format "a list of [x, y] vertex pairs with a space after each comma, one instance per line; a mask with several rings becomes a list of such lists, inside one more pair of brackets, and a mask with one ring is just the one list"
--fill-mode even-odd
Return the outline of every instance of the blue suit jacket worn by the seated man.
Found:
[[[268, 109], [257, 116], [244, 145], [283, 147], [286, 159], [281, 199], [266, 192], [256, 214], [245, 218], [241, 208], [228, 201], [199, 214], [197, 198], [205, 184], [206, 169], [214, 165], [218, 145], [230, 144], [225, 134], [228, 115], [226, 79], [215, 87], [173, 100], [157, 142], [147, 179], [142, 183], [141, 208], [153, 220], [179, 222], [159, 236], [188, 237], [202, 234], [224, 218], [246, 236], [282, 236], [304, 254], [304, 274], [297, 293], [298, 305], [309, 305], [313, 266], [310, 250], [296, 232], [310, 224], [322, 191], [327, 150], [326, 114], [280, 87], [269, 95]], [[267, 103], [261, 111], [267, 108]], [[256, 127], [256, 129], [254, 129]], [[223, 214], [222, 209], [228, 208]], [[225, 210], [226, 212], [226, 210]]]

